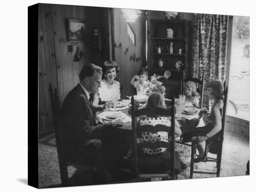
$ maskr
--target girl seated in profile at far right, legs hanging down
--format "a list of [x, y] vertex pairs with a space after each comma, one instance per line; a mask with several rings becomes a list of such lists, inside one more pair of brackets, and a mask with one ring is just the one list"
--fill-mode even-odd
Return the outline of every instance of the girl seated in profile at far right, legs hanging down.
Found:
[[[183, 141], [195, 141], [197, 143], [199, 156], [195, 159], [195, 163], [207, 161], [208, 147], [205, 147], [205, 141], [222, 129], [223, 91], [223, 85], [220, 81], [213, 80], [207, 84], [207, 95], [209, 99], [213, 99], [215, 102], [206, 118], [206, 126], [197, 127], [182, 135]], [[205, 150], [205, 148], [207, 149]]]

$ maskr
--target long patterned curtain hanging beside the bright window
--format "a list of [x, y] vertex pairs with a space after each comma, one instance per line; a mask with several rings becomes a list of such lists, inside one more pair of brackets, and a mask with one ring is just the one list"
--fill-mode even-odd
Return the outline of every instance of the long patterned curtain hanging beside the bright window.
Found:
[[194, 14], [191, 76], [202, 79], [203, 107], [209, 107], [206, 85], [210, 80], [225, 81], [228, 15]]

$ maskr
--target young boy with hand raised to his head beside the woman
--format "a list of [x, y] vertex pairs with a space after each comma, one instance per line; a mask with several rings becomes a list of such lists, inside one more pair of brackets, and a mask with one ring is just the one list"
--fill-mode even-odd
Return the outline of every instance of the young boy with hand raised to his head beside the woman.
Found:
[[137, 95], [145, 95], [150, 89], [150, 81], [148, 80], [148, 70], [146, 68], [141, 68], [138, 75], [135, 75], [131, 79], [131, 85], [136, 88]]

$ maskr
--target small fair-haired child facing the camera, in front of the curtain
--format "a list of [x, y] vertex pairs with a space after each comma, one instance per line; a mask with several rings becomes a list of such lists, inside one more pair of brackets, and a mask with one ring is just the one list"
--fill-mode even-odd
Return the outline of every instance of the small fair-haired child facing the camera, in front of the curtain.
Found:
[[191, 102], [195, 107], [199, 106], [198, 93], [196, 92], [196, 85], [194, 81], [185, 83], [185, 101]]

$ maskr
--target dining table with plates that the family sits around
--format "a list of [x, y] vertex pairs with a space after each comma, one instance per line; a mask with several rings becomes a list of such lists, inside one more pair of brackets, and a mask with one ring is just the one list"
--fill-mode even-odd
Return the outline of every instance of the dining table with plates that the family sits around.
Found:
[[[169, 103], [167, 102], [167, 108], [168, 108], [168, 105]], [[178, 110], [177, 109], [182, 109], [186, 107], [185, 105], [184, 106], [180, 106], [178, 104], [175, 104], [175, 108], [176, 108], [176, 115], [175, 115], [175, 118], [176, 120], [178, 121], [178, 123], [180, 124], [180, 128], [182, 130], [182, 134], [184, 133], [187, 133], [189, 132], [190, 130], [193, 130], [195, 127], [198, 126], [199, 122], [202, 121], [202, 115], [204, 114], [200, 109], [198, 109], [199, 113], [197, 113], [198, 115], [196, 115], [197, 117], [196, 118], [193, 118], [193, 119], [188, 119], [186, 117], [182, 117], [181, 115], [179, 115], [178, 113], [181, 113], [182, 110]], [[117, 109], [118, 110], [118, 109]], [[108, 111], [108, 110], [106, 110]], [[120, 110], [122, 113], [124, 113], [125, 115], [127, 115], [128, 117], [131, 117], [131, 110], [130, 110], [130, 107], [125, 107], [124, 109], [121, 109]], [[101, 114], [103, 111], [97, 111], [96, 112], [96, 117]], [[100, 122], [100, 123], [104, 123], [105, 121], [101, 118], [97, 118], [97, 120]], [[117, 128], [117, 132], [118, 133], [123, 133], [123, 134], [131, 134], [131, 131], [132, 131], [132, 123], [131, 121], [130, 122], [126, 122], [125, 124], [123, 124], [121, 127], [118, 127]]]

